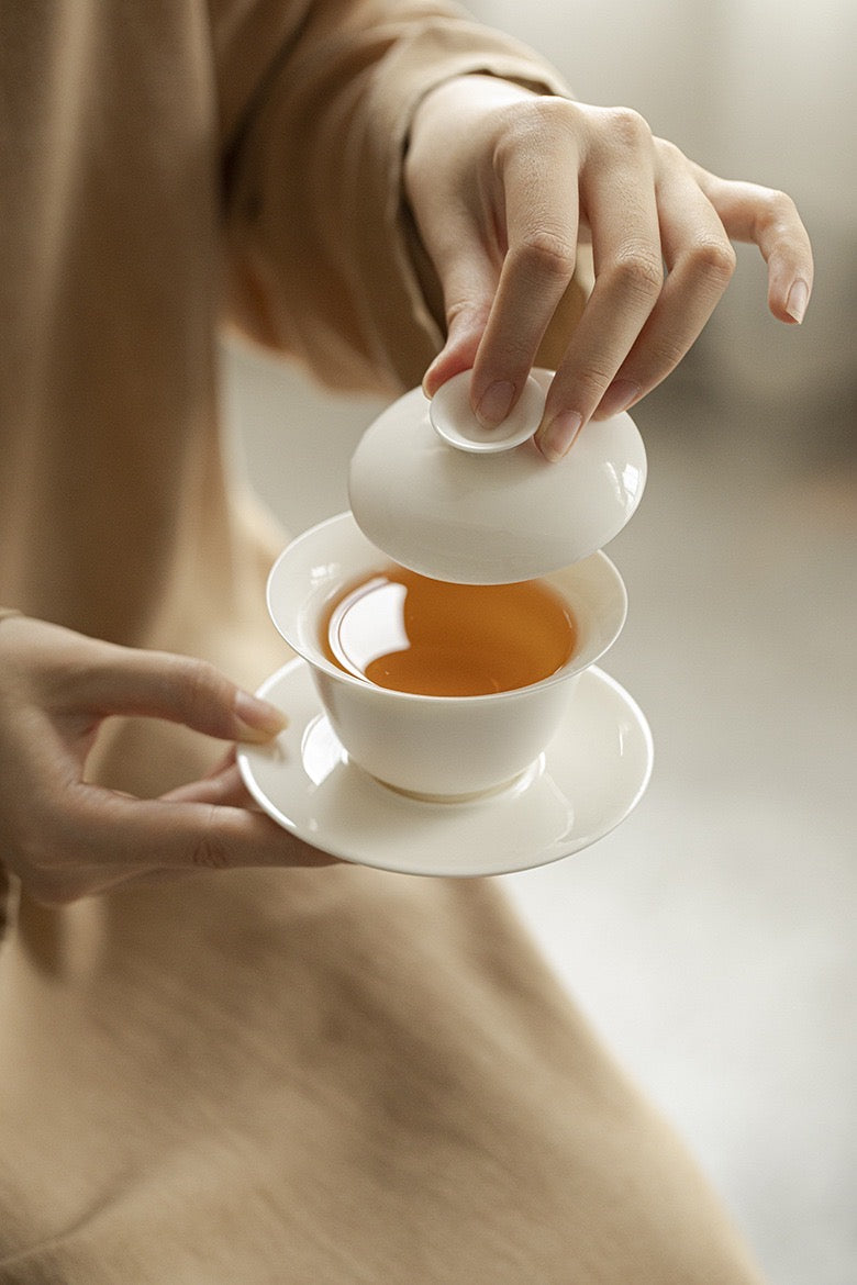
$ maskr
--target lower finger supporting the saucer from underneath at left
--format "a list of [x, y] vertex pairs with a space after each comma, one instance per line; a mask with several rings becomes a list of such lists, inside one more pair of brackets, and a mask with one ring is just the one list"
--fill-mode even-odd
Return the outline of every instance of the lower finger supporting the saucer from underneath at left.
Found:
[[335, 858], [310, 847], [261, 812], [209, 802], [127, 799], [80, 786], [68, 813], [68, 846], [78, 835], [91, 865], [136, 870], [320, 866]]

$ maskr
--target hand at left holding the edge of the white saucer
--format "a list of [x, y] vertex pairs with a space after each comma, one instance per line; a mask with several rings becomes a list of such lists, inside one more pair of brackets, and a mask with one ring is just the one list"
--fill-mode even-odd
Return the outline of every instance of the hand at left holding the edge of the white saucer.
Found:
[[333, 861], [251, 810], [234, 752], [161, 799], [84, 780], [109, 714], [167, 718], [224, 740], [267, 740], [283, 716], [211, 666], [114, 646], [41, 621], [0, 622], [0, 856], [45, 903], [164, 871]]

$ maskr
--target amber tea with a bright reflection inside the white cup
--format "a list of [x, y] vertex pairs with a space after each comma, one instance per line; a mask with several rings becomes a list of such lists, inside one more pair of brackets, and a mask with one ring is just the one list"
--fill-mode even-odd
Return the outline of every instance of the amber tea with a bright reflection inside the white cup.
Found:
[[550, 677], [573, 655], [577, 625], [545, 581], [451, 585], [388, 567], [333, 598], [320, 641], [328, 660], [376, 686], [478, 696]]

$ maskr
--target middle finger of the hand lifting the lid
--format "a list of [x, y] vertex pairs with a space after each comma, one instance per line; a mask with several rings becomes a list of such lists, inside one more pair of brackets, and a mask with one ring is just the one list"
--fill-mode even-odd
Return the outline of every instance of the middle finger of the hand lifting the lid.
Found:
[[633, 112], [610, 112], [608, 143], [581, 172], [595, 285], [551, 383], [536, 443], [560, 459], [626, 360], [663, 288], [651, 136]]

